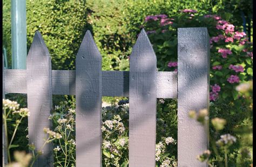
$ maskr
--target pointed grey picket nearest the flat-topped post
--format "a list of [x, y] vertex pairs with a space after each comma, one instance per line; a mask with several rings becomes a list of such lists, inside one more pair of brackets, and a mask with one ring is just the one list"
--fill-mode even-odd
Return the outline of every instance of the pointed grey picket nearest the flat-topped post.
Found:
[[130, 56], [129, 166], [156, 166], [157, 58], [142, 30]]

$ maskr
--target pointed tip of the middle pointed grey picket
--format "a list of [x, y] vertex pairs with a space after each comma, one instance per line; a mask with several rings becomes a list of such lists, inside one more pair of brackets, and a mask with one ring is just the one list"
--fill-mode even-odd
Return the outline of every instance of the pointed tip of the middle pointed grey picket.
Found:
[[100, 55], [100, 52], [95, 43], [95, 40], [92, 37], [90, 30], [87, 30], [84, 35], [83, 41], [79, 47], [79, 50], [76, 56], [76, 60], [84, 60], [84, 59], [88, 59], [88, 57], [93, 57], [93, 59], [99, 60], [99, 61], [102, 60], [102, 55]]

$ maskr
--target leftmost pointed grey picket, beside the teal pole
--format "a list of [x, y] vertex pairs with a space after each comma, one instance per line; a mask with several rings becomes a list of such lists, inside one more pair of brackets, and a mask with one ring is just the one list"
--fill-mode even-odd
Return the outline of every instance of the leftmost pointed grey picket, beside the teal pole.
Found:
[[[44, 144], [43, 128], [51, 128], [48, 117], [52, 109], [51, 58], [39, 31], [33, 38], [26, 66], [29, 143], [34, 143], [37, 151]], [[34, 166], [53, 166], [52, 144], [46, 144], [43, 152]]]

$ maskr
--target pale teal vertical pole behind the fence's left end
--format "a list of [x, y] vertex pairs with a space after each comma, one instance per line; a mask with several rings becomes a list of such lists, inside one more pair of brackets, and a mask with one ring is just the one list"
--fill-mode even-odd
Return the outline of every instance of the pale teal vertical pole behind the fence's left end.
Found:
[[26, 0], [11, 0], [12, 69], [26, 69]]

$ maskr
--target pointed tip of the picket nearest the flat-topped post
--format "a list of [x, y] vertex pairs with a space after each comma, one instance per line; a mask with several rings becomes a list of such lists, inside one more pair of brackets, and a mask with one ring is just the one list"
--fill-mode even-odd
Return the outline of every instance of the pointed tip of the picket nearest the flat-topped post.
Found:
[[144, 29], [140, 32], [137, 41], [132, 48], [130, 56], [130, 71], [133, 70], [133, 68], [131, 68], [133, 66], [132, 61], [145, 61], [141, 62], [142, 66], [140, 67], [143, 69], [154, 66], [157, 61], [152, 44], [150, 43], [149, 37], [147, 37], [147, 33]]

